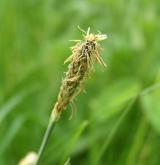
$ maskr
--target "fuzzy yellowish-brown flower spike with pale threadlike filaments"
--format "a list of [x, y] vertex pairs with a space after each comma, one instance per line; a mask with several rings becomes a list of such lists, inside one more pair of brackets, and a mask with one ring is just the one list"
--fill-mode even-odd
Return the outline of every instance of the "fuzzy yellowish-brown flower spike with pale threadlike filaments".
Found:
[[93, 71], [95, 62], [106, 67], [100, 55], [102, 48], [98, 42], [106, 39], [107, 36], [101, 33], [92, 34], [90, 28], [87, 32], [80, 27], [79, 29], [84, 33], [84, 39], [72, 40], [76, 42], [76, 45], [71, 47], [72, 55], [65, 61], [65, 63], [69, 62], [68, 71], [62, 80], [51, 119], [56, 118], [58, 120], [62, 110], [80, 93], [81, 86], [90, 72]]

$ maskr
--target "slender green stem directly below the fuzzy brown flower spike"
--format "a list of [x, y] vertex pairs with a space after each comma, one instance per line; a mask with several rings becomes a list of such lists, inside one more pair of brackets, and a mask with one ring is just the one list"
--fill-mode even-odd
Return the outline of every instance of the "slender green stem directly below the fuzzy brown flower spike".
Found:
[[48, 127], [47, 127], [47, 129], [46, 129], [46, 132], [45, 132], [45, 134], [44, 134], [44, 137], [43, 137], [41, 146], [40, 146], [39, 151], [38, 151], [38, 156], [37, 156], [37, 160], [36, 160], [35, 165], [38, 165], [39, 162], [40, 162], [40, 159], [41, 159], [41, 157], [42, 157], [42, 155], [43, 155], [43, 152], [44, 152], [44, 150], [45, 150], [45, 148], [46, 148], [46, 146], [47, 146], [49, 137], [50, 137], [50, 135], [51, 135], [51, 133], [52, 133], [52, 130], [54, 129], [54, 127], [55, 127], [55, 125], [56, 125], [56, 122], [57, 122], [56, 118], [53, 118], [53, 119], [50, 120], [49, 123], [48, 123]]

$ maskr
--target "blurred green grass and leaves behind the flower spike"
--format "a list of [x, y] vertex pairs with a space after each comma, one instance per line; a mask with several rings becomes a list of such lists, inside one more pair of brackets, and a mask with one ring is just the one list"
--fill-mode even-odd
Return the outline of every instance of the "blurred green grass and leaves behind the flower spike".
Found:
[[76, 116], [68, 120], [70, 107], [63, 113], [41, 164], [159, 165], [159, 20], [159, 0], [1, 0], [0, 165], [38, 150], [69, 40], [82, 38], [77, 25], [108, 34], [108, 68], [96, 65]]

